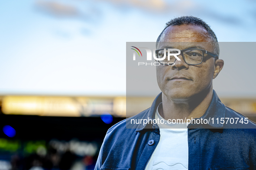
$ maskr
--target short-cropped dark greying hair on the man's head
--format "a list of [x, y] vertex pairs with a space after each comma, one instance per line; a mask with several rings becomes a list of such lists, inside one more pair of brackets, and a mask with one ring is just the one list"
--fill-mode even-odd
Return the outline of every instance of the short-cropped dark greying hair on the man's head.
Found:
[[210, 28], [209, 25], [207, 25], [206, 22], [204, 22], [202, 19], [194, 17], [194, 16], [181, 16], [181, 17], [172, 19], [169, 22], [167, 22], [165, 24], [165, 28], [163, 29], [163, 31], [157, 38], [156, 42], [160, 41], [161, 36], [166, 28], [168, 28], [169, 26], [175, 26], [175, 25], [198, 25], [198, 26], [201, 26], [202, 28], [206, 29], [210, 38], [212, 39], [213, 46], [214, 46], [214, 53], [217, 55], [220, 55], [220, 47], [219, 47], [219, 43], [218, 43], [218, 40], [217, 40], [217, 37], [216, 37], [214, 31], [212, 31], [212, 29]]

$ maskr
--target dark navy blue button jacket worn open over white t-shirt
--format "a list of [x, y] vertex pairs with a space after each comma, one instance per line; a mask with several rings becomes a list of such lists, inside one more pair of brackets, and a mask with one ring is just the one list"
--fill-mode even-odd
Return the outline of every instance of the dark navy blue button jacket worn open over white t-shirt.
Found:
[[[149, 109], [115, 124], [107, 131], [95, 170], [145, 169], [158, 145], [160, 129], [154, 123], [131, 124], [130, 120], [154, 119], [161, 102], [162, 93]], [[245, 120], [242, 114], [225, 107], [215, 91], [211, 104], [201, 118]], [[188, 170], [256, 170], [255, 128], [256, 124], [250, 120], [247, 124], [236, 125], [232, 121], [189, 124]]]

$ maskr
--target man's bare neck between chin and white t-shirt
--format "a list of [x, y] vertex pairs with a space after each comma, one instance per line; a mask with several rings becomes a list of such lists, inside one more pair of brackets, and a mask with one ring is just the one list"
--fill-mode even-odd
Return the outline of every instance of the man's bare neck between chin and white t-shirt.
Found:
[[184, 121], [185, 119], [200, 118], [209, 107], [212, 95], [213, 90], [211, 88], [190, 99], [175, 101], [162, 93], [162, 107], [159, 107], [159, 114], [165, 120], [182, 119]]

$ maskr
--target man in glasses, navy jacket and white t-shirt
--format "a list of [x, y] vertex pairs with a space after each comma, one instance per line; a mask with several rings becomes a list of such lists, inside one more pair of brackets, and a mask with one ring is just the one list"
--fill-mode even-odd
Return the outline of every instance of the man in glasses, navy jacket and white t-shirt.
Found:
[[[170, 57], [172, 66], [160, 60], [156, 66], [162, 93], [149, 109], [108, 130], [95, 170], [256, 170], [256, 125], [225, 107], [213, 90], [224, 66], [214, 32], [193, 16], [172, 19], [157, 40], [157, 57], [168, 48], [181, 54]], [[172, 129], [167, 121], [192, 118], [186, 129]], [[246, 124], [216, 122], [225, 118]], [[165, 123], [131, 121], [154, 119]]]

